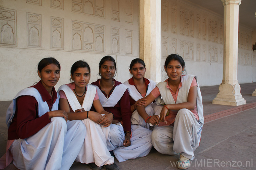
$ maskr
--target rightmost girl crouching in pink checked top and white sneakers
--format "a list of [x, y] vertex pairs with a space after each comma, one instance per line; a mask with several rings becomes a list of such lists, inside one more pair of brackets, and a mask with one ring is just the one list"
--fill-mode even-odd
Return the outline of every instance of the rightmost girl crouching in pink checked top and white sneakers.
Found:
[[[184, 70], [183, 58], [169, 55], [165, 61], [168, 79], [158, 83], [145, 97], [145, 105], [136, 106], [147, 123], [158, 124], [152, 132], [154, 148], [162, 154], [181, 154], [180, 169], [189, 168], [195, 158], [194, 150], [199, 146], [203, 125], [202, 96], [196, 76], [182, 75]], [[149, 116], [144, 107], [155, 99], [163, 105], [160, 116]]]

